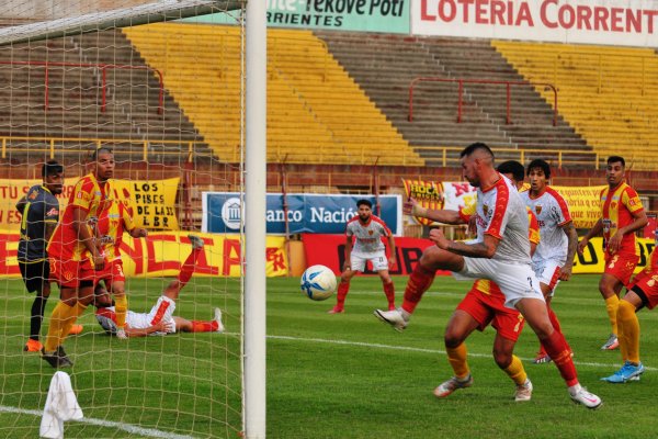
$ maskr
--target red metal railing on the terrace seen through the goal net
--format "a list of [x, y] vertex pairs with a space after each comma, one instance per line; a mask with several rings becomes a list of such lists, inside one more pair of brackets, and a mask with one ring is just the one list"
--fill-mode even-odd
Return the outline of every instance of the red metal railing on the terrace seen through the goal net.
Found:
[[123, 70], [152, 70], [158, 75], [158, 114], [162, 114], [162, 108], [164, 102], [164, 82], [162, 80], [162, 72], [160, 70], [148, 67], [148, 66], [129, 66], [121, 64], [104, 64], [104, 63], [55, 63], [55, 61], [7, 61], [0, 60], [0, 65], [10, 66], [36, 66], [45, 69], [44, 76], [44, 110], [48, 111], [48, 90], [50, 86], [49, 71], [52, 67], [79, 67], [79, 68], [95, 68], [101, 70], [101, 112], [105, 112], [107, 103], [107, 70], [109, 69], [123, 69]]

